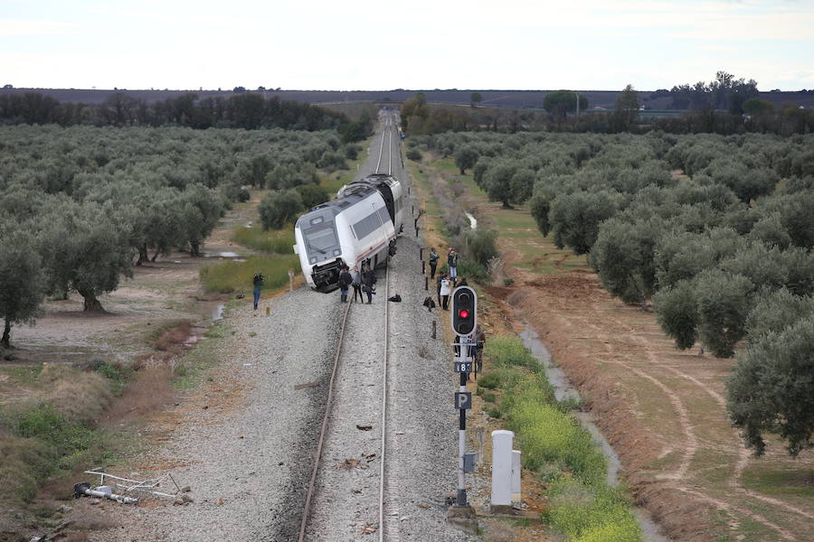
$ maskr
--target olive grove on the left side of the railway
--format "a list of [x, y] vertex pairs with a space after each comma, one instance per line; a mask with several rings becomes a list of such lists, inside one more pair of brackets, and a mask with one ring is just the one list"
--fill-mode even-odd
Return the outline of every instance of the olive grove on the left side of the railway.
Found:
[[0, 348], [46, 295], [75, 291], [102, 310], [99, 296], [134, 266], [174, 249], [201, 255], [248, 189], [312, 201], [324, 193], [317, 168], [345, 168], [358, 151], [334, 130], [0, 126]]

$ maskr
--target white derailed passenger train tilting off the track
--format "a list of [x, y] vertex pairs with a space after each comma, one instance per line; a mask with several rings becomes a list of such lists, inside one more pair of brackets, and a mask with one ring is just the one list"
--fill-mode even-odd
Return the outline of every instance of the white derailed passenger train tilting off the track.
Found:
[[330, 290], [343, 265], [383, 264], [395, 253], [403, 216], [402, 183], [383, 173], [345, 184], [336, 200], [303, 214], [294, 226], [294, 252], [308, 285]]

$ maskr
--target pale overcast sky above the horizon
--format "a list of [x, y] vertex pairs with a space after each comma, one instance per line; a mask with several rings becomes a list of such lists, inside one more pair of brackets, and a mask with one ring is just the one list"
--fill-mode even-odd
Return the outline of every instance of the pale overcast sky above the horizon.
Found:
[[0, 85], [814, 89], [814, 1], [0, 0]]

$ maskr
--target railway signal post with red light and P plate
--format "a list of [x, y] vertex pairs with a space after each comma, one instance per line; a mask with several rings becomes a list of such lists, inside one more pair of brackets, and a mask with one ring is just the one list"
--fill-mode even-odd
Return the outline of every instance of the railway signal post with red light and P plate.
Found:
[[475, 454], [467, 453], [467, 410], [472, 407], [472, 394], [467, 391], [467, 379], [474, 365], [474, 342], [469, 335], [475, 332], [478, 321], [478, 294], [469, 286], [459, 286], [452, 292], [452, 332], [455, 343], [452, 345], [455, 372], [460, 375], [459, 391], [455, 393], [455, 407], [459, 409], [458, 426], [458, 496], [455, 506], [447, 512], [447, 520], [463, 530], [475, 534], [478, 521], [475, 509], [467, 502], [465, 473], [475, 470]]

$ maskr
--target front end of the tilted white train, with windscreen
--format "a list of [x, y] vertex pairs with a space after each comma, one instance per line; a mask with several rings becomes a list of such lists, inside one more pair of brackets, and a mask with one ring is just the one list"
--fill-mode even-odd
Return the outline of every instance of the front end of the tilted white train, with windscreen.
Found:
[[302, 274], [312, 288], [327, 292], [336, 289], [342, 259], [342, 217], [333, 206], [322, 205], [308, 211], [294, 226], [294, 252]]

